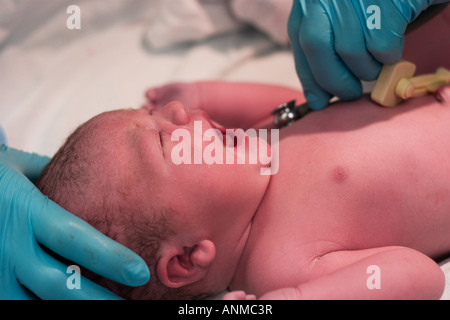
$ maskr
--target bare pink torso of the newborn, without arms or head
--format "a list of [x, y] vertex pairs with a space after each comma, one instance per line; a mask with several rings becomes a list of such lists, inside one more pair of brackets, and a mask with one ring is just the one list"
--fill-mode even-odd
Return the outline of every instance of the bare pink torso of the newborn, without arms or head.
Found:
[[242, 263], [250, 288], [306, 280], [330, 251], [450, 252], [448, 110], [350, 111], [312, 114], [281, 132], [279, 171]]

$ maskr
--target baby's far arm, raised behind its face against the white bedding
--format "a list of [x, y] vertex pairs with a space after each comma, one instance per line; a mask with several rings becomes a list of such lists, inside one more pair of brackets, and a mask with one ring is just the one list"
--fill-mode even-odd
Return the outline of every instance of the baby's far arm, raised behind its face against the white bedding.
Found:
[[188, 108], [205, 110], [225, 127], [247, 129], [270, 126], [270, 112], [290, 100], [305, 102], [299, 90], [269, 84], [205, 81], [173, 83], [147, 91], [150, 105], [163, 107], [178, 100]]

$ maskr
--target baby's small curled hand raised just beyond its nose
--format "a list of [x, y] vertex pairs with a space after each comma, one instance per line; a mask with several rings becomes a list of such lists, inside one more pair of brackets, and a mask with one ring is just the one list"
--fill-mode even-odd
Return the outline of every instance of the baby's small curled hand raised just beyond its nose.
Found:
[[188, 109], [200, 108], [200, 89], [197, 83], [175, 82], [151, 88], [145, 93], [150, 108], [162, 108], [171, 101], [180, 101]]

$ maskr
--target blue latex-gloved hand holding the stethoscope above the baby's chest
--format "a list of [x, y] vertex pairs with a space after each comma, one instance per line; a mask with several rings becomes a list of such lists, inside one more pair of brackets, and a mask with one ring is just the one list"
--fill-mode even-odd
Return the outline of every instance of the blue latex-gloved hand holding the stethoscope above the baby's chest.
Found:
[[[430, 5], [449, 0], [294, 0], [288, 32], [297, 74], [312, 109], [332, 96], [361, 96], [360, 80], [400, 59], [406, 27]], [[380, 28], [369, 29], [378, 6]]]

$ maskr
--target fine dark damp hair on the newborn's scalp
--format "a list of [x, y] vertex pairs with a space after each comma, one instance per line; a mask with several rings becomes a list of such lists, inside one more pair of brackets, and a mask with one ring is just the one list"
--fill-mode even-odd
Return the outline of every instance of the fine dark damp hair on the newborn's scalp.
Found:
[[[94, 118], [95, 119], [95, 118]], [[96, 121], [78, 127], [42, 172], [36, 186], [44, 195], [93, 227], [140, 255], [149, 266], [149, 283], [128, 287], [82, 269], [82, 275], [125, 299], [192, 299], [189, 288], [165, 287], [156, 276], [156, 257], [162, 241], [173, 234], [168, 212], [151, 212], [132, 200], [130, 177], [124, 172], [104, 172], [96, 161], [105, 157], [96, 135]], [[108, 167], [112, 170], [115, 166]], [[117, 169], [119, 170], [119, 169]], [[123, 176], [111, 185], [108, 176]]]

